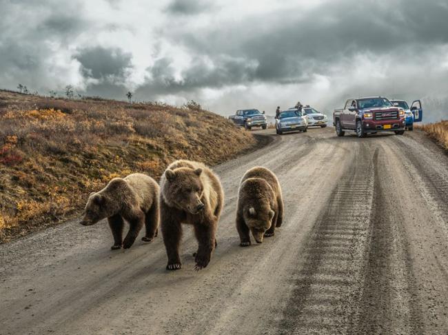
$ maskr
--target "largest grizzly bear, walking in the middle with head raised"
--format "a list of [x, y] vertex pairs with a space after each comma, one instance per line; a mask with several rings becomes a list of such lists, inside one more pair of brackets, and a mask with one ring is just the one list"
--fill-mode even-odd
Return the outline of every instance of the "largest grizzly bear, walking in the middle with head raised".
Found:
[[210, 262], [224, 193], [218, 176], [202, 163], [175, 161], [161, 177], [161, 229], [168, 256], [167, 270], [182, 267], [179, 256], [181, 223], [193, 225], [198, 241], [195, 269]]

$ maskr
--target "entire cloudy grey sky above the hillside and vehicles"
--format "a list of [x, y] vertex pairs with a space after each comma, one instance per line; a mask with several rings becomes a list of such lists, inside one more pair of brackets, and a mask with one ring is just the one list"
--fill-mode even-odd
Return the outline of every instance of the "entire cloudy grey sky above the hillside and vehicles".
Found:
[[273, 114], [422, 99], [448, 119], [447, 0], [0, 0], [0, 88]]

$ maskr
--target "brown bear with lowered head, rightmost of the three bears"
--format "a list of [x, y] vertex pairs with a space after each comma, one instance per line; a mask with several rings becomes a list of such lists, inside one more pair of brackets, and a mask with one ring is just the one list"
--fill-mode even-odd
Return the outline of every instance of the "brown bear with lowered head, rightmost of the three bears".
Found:
[[252, 167], [241, 179], [236, 210], [236, 229], [241, 247], [250, 245], [249, 231], [256, 243], [273, 236], [283, 221], [283, 197], [276, 175], [265, 167]]

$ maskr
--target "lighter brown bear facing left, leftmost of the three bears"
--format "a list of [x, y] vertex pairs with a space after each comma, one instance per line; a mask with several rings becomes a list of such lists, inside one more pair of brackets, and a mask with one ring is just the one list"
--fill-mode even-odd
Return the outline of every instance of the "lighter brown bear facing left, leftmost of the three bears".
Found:
[[[146, 174], [114, 178], [103, 190], [90, 194], [81, 225], [94, 225], [108, 218], [114, 236], [112, 250], [130, 248], [143, 224], [146, 234], [142, 241], [150, 242], [159, 228], [159, 190], [159, 184]], [[130, 226], [124, 241], [123, 220]]]

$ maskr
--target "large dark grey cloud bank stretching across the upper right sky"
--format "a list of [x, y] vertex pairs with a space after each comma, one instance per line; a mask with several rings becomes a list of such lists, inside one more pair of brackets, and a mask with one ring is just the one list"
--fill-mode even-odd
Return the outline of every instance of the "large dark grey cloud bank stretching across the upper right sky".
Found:
[[[448, 43], [447, 17], [442, 1], [331, 1], [306, 17], [279, 11], [225, 27], [174, 31], [170, 38], [194, 54], [205, 52], [218, 68], [225, 67], [222, 54], [256, 61], [255, 73], [242, 76], [247, 79], [302, 82], [356, 54], [396, 53], [404, 61], [419, 57], [433, 45]], [[216, 79], [209, 85], [225, 84], [225, 78]]]

